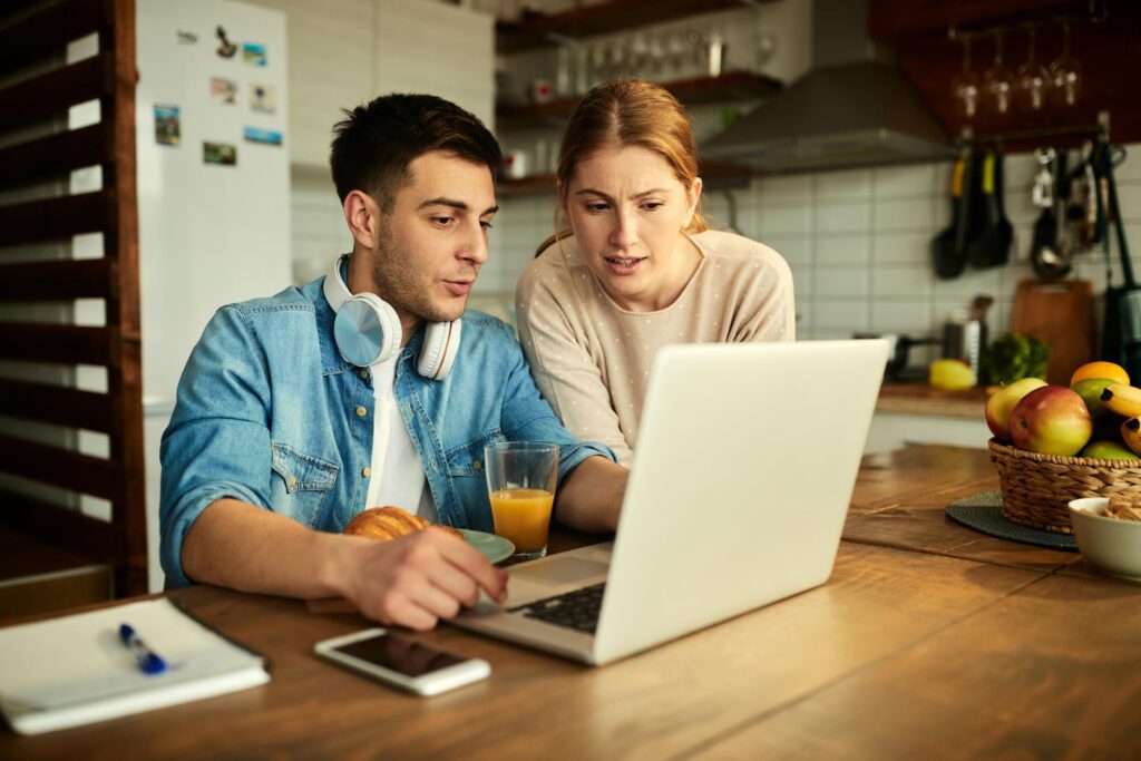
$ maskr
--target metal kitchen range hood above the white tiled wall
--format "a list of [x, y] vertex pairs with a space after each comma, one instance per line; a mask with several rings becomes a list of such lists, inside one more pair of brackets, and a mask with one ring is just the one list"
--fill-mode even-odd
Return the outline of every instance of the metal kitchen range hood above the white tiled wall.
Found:
[[866, 0], [814, 0], [812, 70], [707, 140], [702, 154], [793, 172], [933, 161], [954, 149], [915, 88], [868, 39]]

